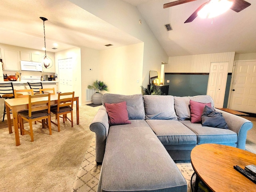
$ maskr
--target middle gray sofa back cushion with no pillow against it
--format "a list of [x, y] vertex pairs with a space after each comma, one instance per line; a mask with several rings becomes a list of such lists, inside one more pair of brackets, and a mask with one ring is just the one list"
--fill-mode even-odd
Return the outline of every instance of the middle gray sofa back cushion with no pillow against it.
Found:
[[178, 120], [171, 95], [144, 95], [146, 119]]

